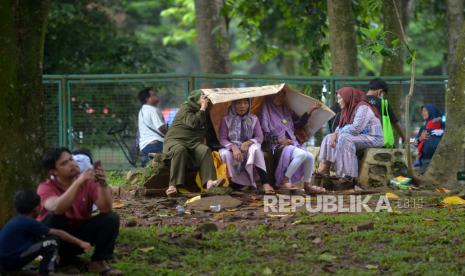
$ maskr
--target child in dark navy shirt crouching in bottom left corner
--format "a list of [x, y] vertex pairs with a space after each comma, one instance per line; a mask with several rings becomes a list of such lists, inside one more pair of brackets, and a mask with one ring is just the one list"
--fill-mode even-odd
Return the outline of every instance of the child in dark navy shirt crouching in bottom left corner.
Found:
[[92, 246], [65, 231], [48, 228], [35, 220], [40, 210], [40, 198], [32, 191], [19, 191], [15, 196], [18, 213], [0, 231], [0, 268], [4, 271], [20, 270], [42, 256], [39, 275], [54, 271], [58, 255], [57, 239], [74, 243], [89, 252]]

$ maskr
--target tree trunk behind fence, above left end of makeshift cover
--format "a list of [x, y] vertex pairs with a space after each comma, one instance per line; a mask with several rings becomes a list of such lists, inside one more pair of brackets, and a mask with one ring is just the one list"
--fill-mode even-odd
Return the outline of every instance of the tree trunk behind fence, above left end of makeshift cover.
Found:
[[197, 42], [203, 73], [231, 72], [226, 18], [220, 14], [223, 0], [195, 0]]

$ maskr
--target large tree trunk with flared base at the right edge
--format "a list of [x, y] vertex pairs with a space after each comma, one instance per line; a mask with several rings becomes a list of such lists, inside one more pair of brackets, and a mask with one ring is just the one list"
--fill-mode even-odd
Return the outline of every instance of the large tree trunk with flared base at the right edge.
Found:
[[[463, 108], [465, 106], [465, 25], [458, 26], [458, 22], [463, 22], [463, 4], [461, 1], [448, 1], [448, 28], [449, 28], [449, 59], [448, 71], [449, 82], [446, 90], [446, 130], [442, 137], [441, 143], [433, 156], [428, 170], [425, 174], [427, 183], [441, 185], [449, 188], [458, 187], [457, 172], [465, 171], [465, 116]], [[462, 17], [451, 18], [450, 14], [456, 12], [455, 16]], [[451, 30], [452, 28], [459, 28]], [[456, 39], [455, 35], [458, 35]], [[456, 45], [454, 45], [456, 44]], [[454, 47], [455, 46], [455, 47]], [[463, 188], [463, 187], [461, 187]]]

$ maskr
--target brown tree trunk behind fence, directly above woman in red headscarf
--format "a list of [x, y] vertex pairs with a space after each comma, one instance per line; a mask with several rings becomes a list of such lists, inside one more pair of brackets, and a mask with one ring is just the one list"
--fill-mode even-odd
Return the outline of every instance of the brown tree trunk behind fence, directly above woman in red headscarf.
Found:
[[329, 49], [332, 73], [357, 76], [357, 41], [351, 0], [328, 0]]

